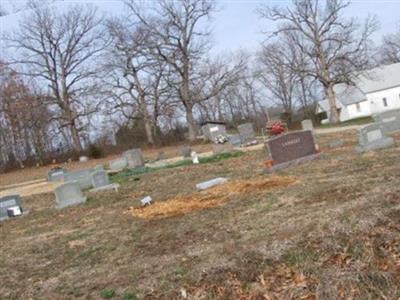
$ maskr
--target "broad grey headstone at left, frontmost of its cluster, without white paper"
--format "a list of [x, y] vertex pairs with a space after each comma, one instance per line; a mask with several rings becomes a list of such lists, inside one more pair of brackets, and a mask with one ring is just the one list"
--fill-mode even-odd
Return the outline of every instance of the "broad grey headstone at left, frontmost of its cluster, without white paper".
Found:
[[86, 202], [81, 188], [76, 181], [66, 182], [57, 187], [54, 191], [56, 195], [57, 208], [64, 208]]

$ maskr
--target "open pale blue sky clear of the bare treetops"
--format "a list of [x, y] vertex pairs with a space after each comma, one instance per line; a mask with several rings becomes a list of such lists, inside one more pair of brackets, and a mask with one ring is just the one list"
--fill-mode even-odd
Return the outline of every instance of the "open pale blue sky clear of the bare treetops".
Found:
[[[16, 3], [23, 4], [25, 1], [0, 0], [7, 5]], [[64, 0], [63, 3], [93, 3], [105, 13], [120, 15], [123, 13], [123, 5], [119, 0]], [[236, 49], [254, 50], [263, 40], [262, 30], [271, 30], [273, 24], [259, 19], [256, 9], [262, 4], [287, 5], [288, 0], [218, 0], [219, 11], [214, 14], [211, 28], [213, 29], [214, 52], [234, 51]], [[7, 7], [8, 8], [8, 7]], [[346, 14], [360, 19], [368, 15], [376, 15], [380, 21], [381, 28], [375, 34], [376, 42], [381, 42], [385, 33], [393, 32], [400, 23], [400, 0], [357, 0], [352, 1]], [[18, 15], [9, 15], [0, 18], [1, 31], [15, 27]]]

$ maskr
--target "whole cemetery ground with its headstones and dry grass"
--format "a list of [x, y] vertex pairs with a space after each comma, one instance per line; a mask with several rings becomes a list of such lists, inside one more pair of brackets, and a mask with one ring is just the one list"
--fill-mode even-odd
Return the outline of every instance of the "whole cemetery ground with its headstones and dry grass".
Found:
[[13, 274], [0, 273], [1, 295], [315, 299], [324, 285], [378, 295], [400, 279], [392, 117], [267, 138], [245, 125], [161, 159], [132, 149], [0, 186], [0, 268]]

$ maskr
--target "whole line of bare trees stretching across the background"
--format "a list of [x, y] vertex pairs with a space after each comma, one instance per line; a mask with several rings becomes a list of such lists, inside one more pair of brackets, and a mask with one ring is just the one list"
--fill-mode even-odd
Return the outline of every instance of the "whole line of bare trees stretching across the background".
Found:
[[258, 17], [275, 24], [266, 42], [220, 56], [208, 26], [215, 1], [123, 2], [125, 14], [110, 17], [91, 5], [30, 1], [2, 37], [1, 166], [81, 153], [122, 128], [156, 145], [182, 129], [194, 141], [206, 120], [262, 123], [278, 110], [290, 123], [298, 110], [313, 118], [323, 98], [338, 122], [336, 84], [400, 62], [400, 27], [375, 46], [377, 20], [346, 18], [345, 0], [261, 5]]

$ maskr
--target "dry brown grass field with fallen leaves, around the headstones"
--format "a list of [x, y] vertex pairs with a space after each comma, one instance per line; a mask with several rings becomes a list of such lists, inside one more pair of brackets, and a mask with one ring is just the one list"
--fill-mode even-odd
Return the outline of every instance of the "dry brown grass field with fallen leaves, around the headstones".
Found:
[[[0, 223], [0, 298], [397, 300], [395, 138], [357, 154], [355, 131], [318, 136], [320, 159], [275, 174], [260, 150], [116, 176], [119, 194], [63, 210], [53, 194], [25, 197], [29, 213]], [[195, 190], [214, 177], [230, 181]], [[146, 195], [155, 204], [139, 208]]]

